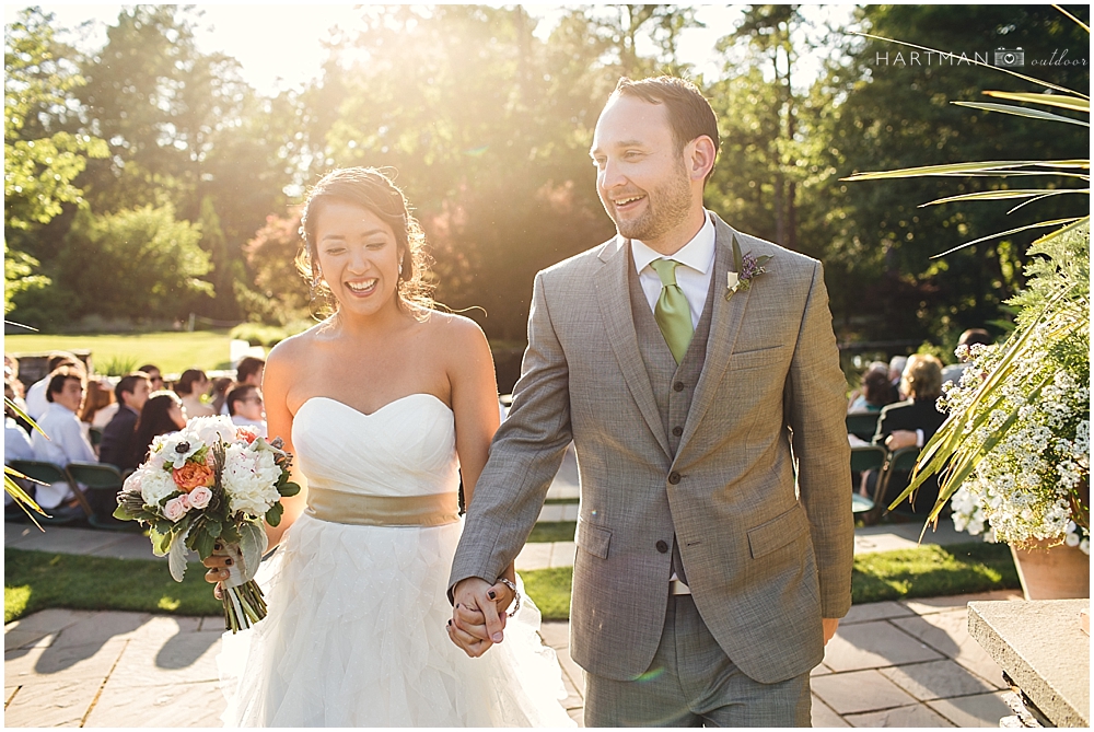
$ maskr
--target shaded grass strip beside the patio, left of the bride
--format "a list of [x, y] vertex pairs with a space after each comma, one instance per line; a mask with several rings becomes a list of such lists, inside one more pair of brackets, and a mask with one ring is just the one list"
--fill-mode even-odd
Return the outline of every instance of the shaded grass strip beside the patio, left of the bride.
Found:
[[4, 623], [47, 607], [220, 615], [223, 606], [193, 563], [175, 582], [167, 562], [4, 549]]

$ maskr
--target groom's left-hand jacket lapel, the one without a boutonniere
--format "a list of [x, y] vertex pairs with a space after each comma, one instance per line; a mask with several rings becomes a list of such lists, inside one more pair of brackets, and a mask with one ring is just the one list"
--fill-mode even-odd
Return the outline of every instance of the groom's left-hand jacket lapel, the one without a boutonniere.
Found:
[[627, 387], [635, 397], [650, 431], [657, 439], [657, 444], [665, 451], [665, 455], [671, 457], [668, 435], [665, 434], [661, 413], [657, 411], [657, 403], [653, 397], [653, 387], [650, 385], [650, 376], [645, 373], [644, 361], [638, 350], [638, 334], [631, 317], [630, 287], [627, 281], [627, 267], [631, 266], [628, 248], [629, 242], [616, 236], [615, 241], [601, 252], [600, 258], [604, 266], [594, 277], [596, 300], [601, 306], [604, 327], [607, 329], [608, 342], [615, 352], [616, 361], [619, 362]]

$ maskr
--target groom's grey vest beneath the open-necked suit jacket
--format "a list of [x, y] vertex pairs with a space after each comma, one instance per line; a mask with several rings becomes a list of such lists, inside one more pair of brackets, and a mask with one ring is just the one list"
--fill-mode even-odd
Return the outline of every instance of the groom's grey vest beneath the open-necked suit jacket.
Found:
[[[630, 248], [629, 246], [627, 247]], [[645, 364], [645, 373], [650, 377], [650, 386], [653, 388], [653, 398], [657, 403], [657, 411], [661, 414], [661, 422], [664, 425], [665, 433], [668, 435], [668, 446], [673, 451], [673, 456], [679, 449], [680, 437], [684, 434], [684, 422], [687, 421], [688, 410], [691, 409], [691, 396], [695, 387], [699, 383], [702, 374], [702, 365], [707, 359], [707, 337], [710, 334], [711, 313], [714, 312], [714, 278], [710, 278], [710, 289], [707, 290], [707, 302], [699, 316], [699, 323], [695, 327], [695, 335], [691, 336], [691, 344], [684, 355], [684, 360], [679, 365], [673, 358], [673, 352], [668, 350], [665, 337], [661, 335], [661, 327], [653, 311], [645, 299], [645, 292], [635, 271], [635, 260], [628, 253], [627, 281], [630, 283], [630, 312], [635, 322], [635, 332], [638, 335], [638, 350], [642, 355], [642, 362]], [[676, 537], [673, 537], [673, 571], [683, 582], [687, 582], [687, 574], [684, 572], [684, 562], [680, 559], [679, 549], [676, 546]]]

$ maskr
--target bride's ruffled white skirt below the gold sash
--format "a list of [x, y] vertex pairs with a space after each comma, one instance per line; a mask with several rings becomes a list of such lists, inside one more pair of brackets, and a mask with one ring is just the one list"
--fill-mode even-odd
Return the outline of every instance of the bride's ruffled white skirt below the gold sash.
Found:
[[526, 596], [482, 658], [449, 640], [462, 526], [298, 519], [257, 577], [269, 615], [224, 634], [225, 724], [571, 727], [558, 660]]

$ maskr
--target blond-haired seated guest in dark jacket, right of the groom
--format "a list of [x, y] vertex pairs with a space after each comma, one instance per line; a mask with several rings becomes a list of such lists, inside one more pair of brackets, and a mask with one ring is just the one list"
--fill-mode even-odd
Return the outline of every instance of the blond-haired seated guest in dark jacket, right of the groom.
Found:
[[[945, 414], [935, 407], [942, 394], [942, 362], [924, 353], [909, 358], [900, 379], [900, 391], [910, 398], [882, 408], [873, 440], [874, 444], [885, 445], [891, 452], [901, 448], [922, 448], [946, 420]], [[883, 497], [885, 504], [892, 503], [907, 485], [907, 479], [892, 480], [888, 492]], [[913, 497], [913, 512], [927, 515], [934, 508], [938, 497], [938, 481], [924, 485]]]

